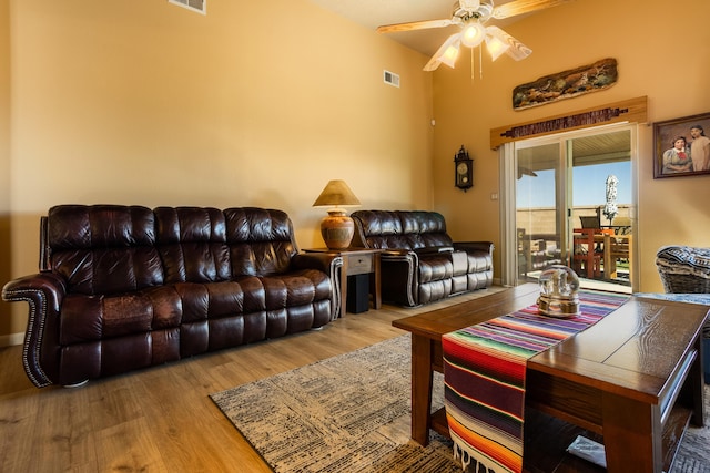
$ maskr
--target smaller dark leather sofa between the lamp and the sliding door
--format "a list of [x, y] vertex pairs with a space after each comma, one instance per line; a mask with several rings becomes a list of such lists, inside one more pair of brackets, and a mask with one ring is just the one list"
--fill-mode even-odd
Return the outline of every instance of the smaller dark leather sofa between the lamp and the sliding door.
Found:
[[493, 284], [490, 241], [453, 241], [437, 212], [357, 210], [353, 246], [381, 254], [383, 300], [415, 307]]

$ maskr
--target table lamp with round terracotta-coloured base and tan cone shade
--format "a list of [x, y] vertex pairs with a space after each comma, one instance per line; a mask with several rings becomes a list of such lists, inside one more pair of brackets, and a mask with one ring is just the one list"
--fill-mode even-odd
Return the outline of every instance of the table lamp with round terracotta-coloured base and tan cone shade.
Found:
[[321, 220], [321, 235], [328, 249], [346, 249], [351, 246], [355, 234], [355, 224], [341, 207], [354, 207], [361, 205], [353, 191], [345, 181], [329, 181], [318, 198], [313, 203], [314, 207], [331, 207], [328, 216]]

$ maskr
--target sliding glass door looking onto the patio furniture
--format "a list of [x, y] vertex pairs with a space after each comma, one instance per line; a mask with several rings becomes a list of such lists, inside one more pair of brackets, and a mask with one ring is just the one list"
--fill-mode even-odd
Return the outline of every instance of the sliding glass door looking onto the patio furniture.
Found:
[[505, 173], [515, 181], [506, 198], [515, 203], [507, 256], [516, 284], [561, 264], [577, 270], [582, 286], [630, 289], [631, 254], [608, 250], [622, 244], [632, 250], [632, 135], [631, 126], [617, 125], [515, 143]]

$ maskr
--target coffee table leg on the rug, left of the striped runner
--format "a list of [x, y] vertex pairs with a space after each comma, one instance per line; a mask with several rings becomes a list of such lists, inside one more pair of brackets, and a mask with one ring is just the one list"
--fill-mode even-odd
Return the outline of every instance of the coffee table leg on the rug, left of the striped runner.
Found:
[[432, 426], [433, 340], [412, 335], [412, 439], [426, 446]]

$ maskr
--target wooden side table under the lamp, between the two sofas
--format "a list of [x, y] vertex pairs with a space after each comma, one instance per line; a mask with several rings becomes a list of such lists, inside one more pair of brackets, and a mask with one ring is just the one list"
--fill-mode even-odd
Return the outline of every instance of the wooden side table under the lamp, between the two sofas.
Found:
[[343, 317], [347, 310], [347, 277], [355, 275], [372, 275], [371, 294], [373, 295], [373, 308], [382, 307], [381, 292], [381, 273], [379, 273], [379, 253], [381, 249], [375, 248], [348, 248], [343, 250], [333, 250], [328, 248], [307, 248], [304, 253], [327, 253], [334, 256], [343, 257], [343, 267], [341, 268], [341, 311]]

